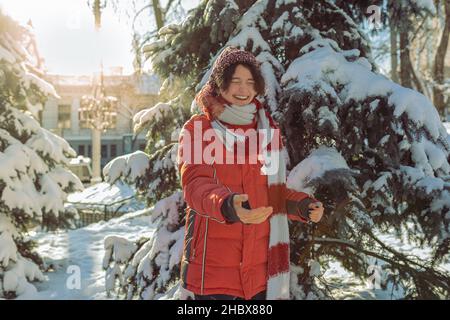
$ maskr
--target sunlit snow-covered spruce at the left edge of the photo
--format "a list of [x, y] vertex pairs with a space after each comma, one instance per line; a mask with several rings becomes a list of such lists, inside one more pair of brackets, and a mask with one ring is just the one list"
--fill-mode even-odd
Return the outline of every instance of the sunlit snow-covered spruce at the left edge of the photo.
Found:
[[64, 199], [82, 189], [64, 166], [75, 156], [69, 144], [36, 120], [53, 87], [32, 64], [29, 29], [0, 12], [0, 299], [34, 292], [44, 280], [42, 260], [26, 232], [64, 221]]

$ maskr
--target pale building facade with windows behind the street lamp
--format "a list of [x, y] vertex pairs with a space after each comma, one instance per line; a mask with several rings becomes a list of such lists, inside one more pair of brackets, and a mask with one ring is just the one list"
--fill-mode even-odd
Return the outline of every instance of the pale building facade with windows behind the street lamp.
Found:
[[[40, 114], [42, 127], [67, 140], [78, 155], [92, 158], [91, 129], [80, 120], [79, 108], [84, 95], [92, 95], [93, 76], [47, 75], [60, 96], [50, 98]], [[158, 102], [160, 82], [154, 75], [122, 75], [119, 71], [104, 75], [106, 95], [117, 98], [117, 116], [102, 132], [101, 166], [117, 156], [144, 150], [145, 132], [133, 137], [133, 115]], [[133, 139], [134, 138], [134, 139]]]

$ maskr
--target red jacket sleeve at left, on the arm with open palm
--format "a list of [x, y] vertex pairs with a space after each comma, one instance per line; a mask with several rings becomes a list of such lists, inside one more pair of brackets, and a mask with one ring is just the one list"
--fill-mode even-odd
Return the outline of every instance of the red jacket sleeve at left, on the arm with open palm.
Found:
[[[211, 164], [204, 163], [203, 159], [200, 163], [194, 163], [194, 152], [203, 153], [205, 147], [202, 132], [194, 135], [194, 121], [202, 122], [201, 119], [191, 118], [184, 125], [179, 137], [177, 162], [184, 199], [189, 207], [199, 214], [225, 223], [221, 207], [226, 198], [232, 195], [232, 192], [217, 183], [214, 177], [214, 167]], [[194, 146], [197, 148], [201, 146], [201, 150], [194, 150]]]

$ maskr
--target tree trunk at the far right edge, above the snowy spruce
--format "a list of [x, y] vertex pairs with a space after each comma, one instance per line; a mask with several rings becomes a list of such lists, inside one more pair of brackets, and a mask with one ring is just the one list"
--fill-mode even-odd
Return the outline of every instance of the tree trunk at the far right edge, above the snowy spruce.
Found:
[[445, 7], [445, 26], [442, 32], [441, 41], [436, 51], [436, 57], [434, 62], [434, 86], [433, 86], [433, 103], [437, 110], [444, 116], [446, 114], [444, 94], [442, 92], [442, 86], [444, 84], [444, 62], [445, 54], [447, 53], [448, 41], [450, 35], [450, 0], [444, 0]]

